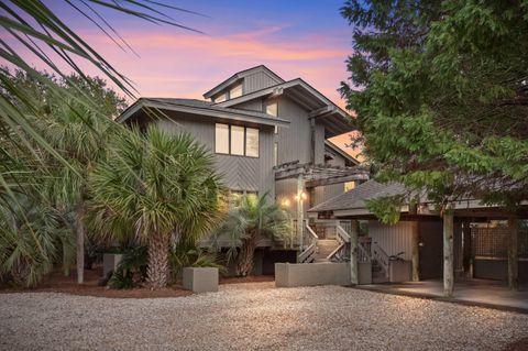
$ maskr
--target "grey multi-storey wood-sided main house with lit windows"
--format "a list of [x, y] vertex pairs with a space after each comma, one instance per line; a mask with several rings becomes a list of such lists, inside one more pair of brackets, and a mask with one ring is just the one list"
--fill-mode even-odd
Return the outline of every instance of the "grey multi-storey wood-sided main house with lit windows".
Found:
[[350, 116], [300, 78], [285, 80], [261, 65], [204, 98], [140, 98], [118, 121], [190, 133], [215, 154], [232, 197], [267, 193], [295, 218], [367, 177], [328, 140], [353, 130]]

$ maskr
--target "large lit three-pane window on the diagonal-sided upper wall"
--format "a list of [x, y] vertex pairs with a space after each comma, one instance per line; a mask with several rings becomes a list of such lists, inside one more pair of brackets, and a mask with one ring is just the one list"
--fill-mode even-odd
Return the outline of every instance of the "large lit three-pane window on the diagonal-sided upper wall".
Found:
[[217, 123], [215, 135], [216, 153], [258, 157], [257, 129]]

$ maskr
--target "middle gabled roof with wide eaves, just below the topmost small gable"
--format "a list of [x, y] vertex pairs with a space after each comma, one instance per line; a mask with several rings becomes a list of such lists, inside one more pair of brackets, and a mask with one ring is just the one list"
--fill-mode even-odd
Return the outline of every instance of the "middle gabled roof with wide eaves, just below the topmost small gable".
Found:
[[350, 123], [350, 114], [301, 78], [292, 79], [268, 88], [245, 94], [234, 99], [215, 103], [215, 106], [232, 107], [257, 98], [280, 94], [286, 94], [306, 109], [311, 110], [312, 112], [310, 112], [309, 117], [317, 118], [317, 120], [326, 127], [324, 138], [332, 138], [353, 130]]

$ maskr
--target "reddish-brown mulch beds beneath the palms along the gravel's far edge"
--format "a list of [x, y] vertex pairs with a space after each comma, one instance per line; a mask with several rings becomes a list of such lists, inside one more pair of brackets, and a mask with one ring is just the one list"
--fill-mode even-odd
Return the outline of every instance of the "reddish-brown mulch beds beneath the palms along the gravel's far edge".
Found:
[[[185, 290], [180, 285], [172, 285], [164, 289], [150, 289], [138, 287], [132, 289], [112, 289], [108, 286], [98, 286], [102, 276], [102, 268], [85, 270], [85, 283], [77, 284], [77, 273], [72, 271], [69, 276], [63, 272], [54, 272], [44, 276], [38, 286], [34, 288], [1, 287], [0, 294], [9, 293], [63, 293], [80, 296], [97, 296], [109, 298], [156, 298], [156, 297], [180, 297], [191, 295], [193, 292]], [[220, 277], [220, 284], [258, 283], [273, 282], [273, 275], [250, 275], [246, 277]]]

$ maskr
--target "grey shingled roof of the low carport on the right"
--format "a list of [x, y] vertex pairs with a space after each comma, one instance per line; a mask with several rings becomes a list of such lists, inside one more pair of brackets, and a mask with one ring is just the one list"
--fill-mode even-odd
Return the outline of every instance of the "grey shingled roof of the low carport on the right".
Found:
[[367, 180], [352, 190], [332, 197], [331, 199], [310, 208], [308, 211], [363, 210], [366, 209], [365, 200], [382, 196], [399, 195], [405, 191], [406, 189], [404, 185], [399, 183], [381, 184], [376, 180]]

